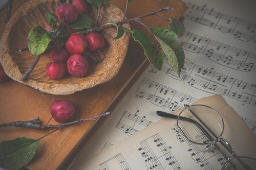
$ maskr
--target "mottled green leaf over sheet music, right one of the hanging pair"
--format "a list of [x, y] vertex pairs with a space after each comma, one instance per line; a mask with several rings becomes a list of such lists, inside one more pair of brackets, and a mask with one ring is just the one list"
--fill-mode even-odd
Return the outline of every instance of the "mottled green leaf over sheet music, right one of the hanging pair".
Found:
[[[183, 66], [184, 66], [185, 54], [181, 47], [181, 42], [179, 41], [179, 37], [175, 34], [175, 32], [169, 31], [165, 28], [150, 28], [150, 31], [152, 33], [154, 33], [158, 39], [161, 39], [164, 43], [166, 43], [168, 46], [170, 46], [170, 48], [172, 48], [172, 50], [174, 51], [174, 53], [177, 57], [178, 74], [180, 74], [181, 68], [183, 68]], [[168, 59], [168, 56], [166, 56], [166, 57]], [[175, 57], [175, 56], [173, 56], [173, 57]], [[172, 61], [174, 61], [174, 62], [172, 63]], [[174, 59], [169, 58], [168, 62], [170, 65], [174, 66], [175, 68], [177, 67]]]

